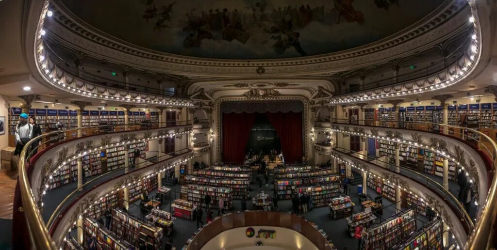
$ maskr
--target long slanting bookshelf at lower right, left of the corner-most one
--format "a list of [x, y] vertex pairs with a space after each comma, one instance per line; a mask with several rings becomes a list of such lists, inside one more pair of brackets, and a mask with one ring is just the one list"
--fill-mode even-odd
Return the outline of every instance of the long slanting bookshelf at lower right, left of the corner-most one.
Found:
[[408, 239], [415, 230], [414, 211], [412, 209], [403, 211], [368, 227], [362, 239], [363, 249], [392, 249]]

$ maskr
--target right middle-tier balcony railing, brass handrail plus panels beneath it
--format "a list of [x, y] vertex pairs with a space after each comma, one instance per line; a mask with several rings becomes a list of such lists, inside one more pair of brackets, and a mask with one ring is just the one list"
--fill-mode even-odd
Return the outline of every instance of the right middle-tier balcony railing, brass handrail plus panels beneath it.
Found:
[[[460, 141], [467, 141], [469, 145], [480, 149], [480, 155], [485, 162], [488, 157], [490, 161], [490, 169], [487, 171], [489, 179], [489, 188], [486, 201], [482, 205], [481, 213], [477, 215], [476, 224], [469, 235], [466, 243], [466, 249], [489, 249], [494, 246], [494, 226], [497, 226], [497, 144], [492, 138], [485, 133], [473, 128], [444, 125], [436, 123], [419, 123], [419, 122], [405, 122], [405, 121], [375, 121], [375, 120], [351, 120], [351, 119], [331, 119], [332, 124], [340, 125], [365, 125], [373, 127], [386, 127], [386, 128], [400, 128], [411, 129], [413, 131], [425, 131], [435, 134], [441, 134], [450, 138], [458, 139]], [[332, 129], [332, 128], [331, 128]], [[363, 135], [364, 132], [351, 131], [352, 135]], [[472, 135], [468, 135], [471, 132]], [[459, 137], [457, 137], [459, 135]], [[376, 137], [378, 139], [385, 138], [385, 136]], [[427, 145], [431, 148], [431, 145]], [[455, 159], [454, 159], [455, 160]]]

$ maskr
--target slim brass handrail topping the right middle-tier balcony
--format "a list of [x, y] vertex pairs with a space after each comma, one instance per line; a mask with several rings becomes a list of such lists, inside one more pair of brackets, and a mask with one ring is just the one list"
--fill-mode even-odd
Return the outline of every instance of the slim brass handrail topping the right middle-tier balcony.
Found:
[[[489, 192], [487, 195], [487, 200], [484, 204], [481, 204], [482, 207], [482, 212], [480, 213], [480, 217], [476, 221], [476, 225], [474, 227], [473, 233], [470, 234], [468, 237], [468, 240], [466, 241], [466, 246], [465, 249], [491, 249], [494, 248], [492, 246], [493, 242], [493, 237], [494, 237], [494, 224], [496, 223], [496, 218], [497, 218], [497, 175], [496, 175], [496, 161], [497, 161], [497, 143], [490, 138], [488, 135], [475, 130], [473, 128], [469, 127], [462, 127], [462, 126], [455, 126], [455, 125], [444, 125], [444, 124], [435, 124], [435, 123], [420, 123], [420, 122], [404, 122], [404, 121], [375, 121], [375, 120], [349, 120], [349, 119], [332, 119], [331, 124], [333, 121], [339, 121], [339, 120], [344, 120], [347, 121], [346, 124], [349, 125], [366, 125], [366, 124], [355, 124], [355, 122], [359, 121], [365, 121], [369, 123], [378, 123], [378, 122], [383, 122], [383, 123], [404, 123], [404, 124], [409, 124], [409, 123], [414, 123], [414, 124], [429, 124], [429, 125], [435, 125], [435, 126], [446, 126], [446, 127], [453, 127], [453, 128], [458, 128], [458, 129], [464, 129], [464, 130], [469, 130], [471, 132], [477, 133], [478, 135], [482, 136], [486, 140], [488, 140], [488, 143], [492, 145], [493, 152], [491, 153], [492, 157], [492, 163], [493, 163], [493, 172], [494, 176], [492, 178], [492, 182], [490, 183], [490, 188]], [[335, 122], [337, 123], [337, 122]], [[368, 125], [366, 125], [368, 126]], [[374, 125], [369, 125], [369, 126], [374, 126]], [[388, 126], [382, 126], [382, 127], [388, 127]], [[399, 127], [396, 127], [399, 128]], [[402, 127], [400, 127], [402, 129]], [[474, 139], [474, 138], [473, 138]]]

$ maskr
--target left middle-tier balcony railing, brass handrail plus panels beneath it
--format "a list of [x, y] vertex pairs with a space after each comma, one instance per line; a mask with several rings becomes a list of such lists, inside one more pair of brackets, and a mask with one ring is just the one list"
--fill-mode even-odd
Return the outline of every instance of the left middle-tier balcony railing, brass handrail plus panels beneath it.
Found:
[[[52, 147], [57, 144], [62, 144], [68, 142], [73, 139], [69, 138], [69, 134], [73, 132], [82, 133], [83, 130], [89, 133], [89, 135], [100, 135], [100, 134], [109, 134], [111, 132], [129, 132], [129, 131], [143, 131], [148, 129], [158, 129], [158, 128], [174, 128], [176, 126], [185, 126], [191, 125], [191, 121], [175, 121], [175, 122], [166, 122], [159, 123], [155, 125], [151, 125], [148, 123], [141, 125], [99, 125], [99, 126], [88, 126], [76, 129], [68, 129], [68, 130], [57, 130], [48, 132], [42, 135], [39, 135], [35, 138], [32, 138], [28, 141], [20, 155], [19, 155], [19, 164], [18, 164], [18, 173], [19, 173], [19, 191], [21, 195], [22, 201], [22, 212], [26, 218], [26, 226], [28, 228], [28, 233], [30, 236], [31, 243], [37, 249], [58, 249], [54, 242], [52, 241], [50, 234], [47, 230], [46, 224], [43, 220], [43, 217], [40, 213], [40, 209], [34, 197], [32, 187], [30, 184], [30, 176], [28, 175], [28, 168], [34, 167], [31, 165], [31, 158], [37, 157], [37, 155], [32, 155], [34, 152], [31, 149], [31, 146], [36, 142], [41, 142], [38, 148], [46, 149]], [[175, 134], [175, 133], [173, 133]], [[161, 137], [173, 136], [172, 134], [164, 134]], [[157, 136], [156, 136], [157, 137]], [[78, 137], [83, 138], [83, 137]], [[159, 138], [157, 138], [159, 139]], [[40, 152], [43, 153], [43, 152]]]

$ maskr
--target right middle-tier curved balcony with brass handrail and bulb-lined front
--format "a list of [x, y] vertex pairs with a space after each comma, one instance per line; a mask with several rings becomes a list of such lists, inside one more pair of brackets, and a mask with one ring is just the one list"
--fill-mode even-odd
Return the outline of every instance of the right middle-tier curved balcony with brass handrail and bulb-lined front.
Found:
[[[456, 162], [467, 173], [467, 176], [471, 178], [473, 183], [478, 185], [480, 194], [480, 207], [476, 218], [477, 223], [474, 231], [470, 232], [472, 234], [469, 236], [466, 246], [467, 248], [471, 248], [493, 244], [478, 237], [478, 233], [480, 233], [480, 236], [491, 234], [497, 216], [497, 179], [495, 175], [497, 145], [489, 136], [468, 127], [430, 123], [370, 120], [351, 121], [346, 119], [334, 119], [332, 123], [334, 126], [333, 131], [336, 132], [427, 148], [439, 152], [451, 161]], [[353, 128], [352, 130], [351, 127]], [[366, 127], [372, 128], [370, 131], [366, 131]], [[383, 131], [383, 133], [380, 134], [380, 131]], [[468, 135], [468, 131], [472, 135]], [[410, 136], [403, 136], [404, 134]], [[452, 145], [453, 149], [448, 145]], [[457, 149], [457, 147], [459, 148]], [[469, 162], [465, 159], [466, 154], [471, 158]]]

